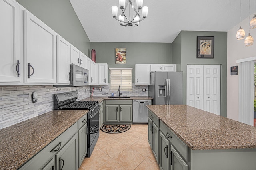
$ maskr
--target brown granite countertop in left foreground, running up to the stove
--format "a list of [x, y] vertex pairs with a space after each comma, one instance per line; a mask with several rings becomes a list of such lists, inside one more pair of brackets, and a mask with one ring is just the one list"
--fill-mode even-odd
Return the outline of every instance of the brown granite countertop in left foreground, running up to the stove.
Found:
[[17, 169], [88, 110], [50, 111], [0, 130], [0, 169]]

